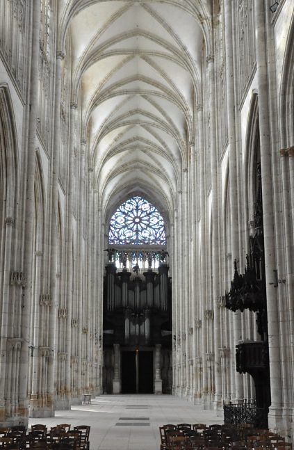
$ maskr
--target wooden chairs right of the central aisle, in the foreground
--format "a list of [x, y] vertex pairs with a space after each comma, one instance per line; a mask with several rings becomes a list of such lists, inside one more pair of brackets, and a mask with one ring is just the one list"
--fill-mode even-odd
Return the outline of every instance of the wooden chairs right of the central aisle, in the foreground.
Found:
[[284, 437], [251, 424], [167, 424], [159, 431], [161, 450], [292, 450], [292, 444], [285, 442]]

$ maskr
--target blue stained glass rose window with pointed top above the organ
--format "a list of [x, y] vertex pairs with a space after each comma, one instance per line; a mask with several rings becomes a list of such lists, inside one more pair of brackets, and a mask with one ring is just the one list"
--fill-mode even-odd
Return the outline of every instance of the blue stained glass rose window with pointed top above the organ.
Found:
[[111, 218], [108, 243], [165, 245], [163, 218], [156, 207], [144, 198], [130, 198], [117, 208]]

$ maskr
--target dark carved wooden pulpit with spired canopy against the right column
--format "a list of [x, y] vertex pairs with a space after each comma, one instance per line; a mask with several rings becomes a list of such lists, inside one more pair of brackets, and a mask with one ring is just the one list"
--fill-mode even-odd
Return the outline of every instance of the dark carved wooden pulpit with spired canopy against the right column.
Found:
[[[254, 214], [254, 234], [250, 236], [250, 252], [246, 255], [243, 274], [234, 262], [234, 280], [226, 294], [226, 307], [236, 312], [250, 310], [256, 313], [260, 341], [244, 341], [236, 345], [236, 370], [250, 373], [256, 392], [256, 426], [268, 427], [270, 406], [270, 368], [268, 360], [268, 317], [266, 306], [266, 275], [263, 253], [263, 210], [261, 196], [261, 167], [257, 166], [258, 188]], [[232, 408], [234, 406], [232, 405]]]

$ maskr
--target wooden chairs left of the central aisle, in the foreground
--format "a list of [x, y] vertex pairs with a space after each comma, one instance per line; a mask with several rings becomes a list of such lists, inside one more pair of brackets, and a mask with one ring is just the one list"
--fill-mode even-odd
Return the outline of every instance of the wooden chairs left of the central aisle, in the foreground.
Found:
[[0, 428], [0, 449], [89, 450], [89, 435], [88, 425], [58, 424], [48, 430], [46, 425], [35, 424], [28, 433], [24, 426]]

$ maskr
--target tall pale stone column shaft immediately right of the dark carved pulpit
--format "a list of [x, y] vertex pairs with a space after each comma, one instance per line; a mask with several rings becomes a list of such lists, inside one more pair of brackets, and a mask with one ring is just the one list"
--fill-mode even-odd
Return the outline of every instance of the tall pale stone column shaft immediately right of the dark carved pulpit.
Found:
[[269, 426], [275, 428], [281, 418], [281, 357], [279, 341], [279, 310], [276, 285], [275, 216], [272, 195], [272, 155], [270, 145], [270, 111], [268, 105], [268, 67], [266, 51], [265, 3], [254, 1], [256, 34], [256, 68], [259, 89], [259, 128], [261, 144], [261, 185], [263, 200], [264, 257], [266, 266], [266, 297], [268, 305], [268, 346], [270, 355], [271, 401]]

